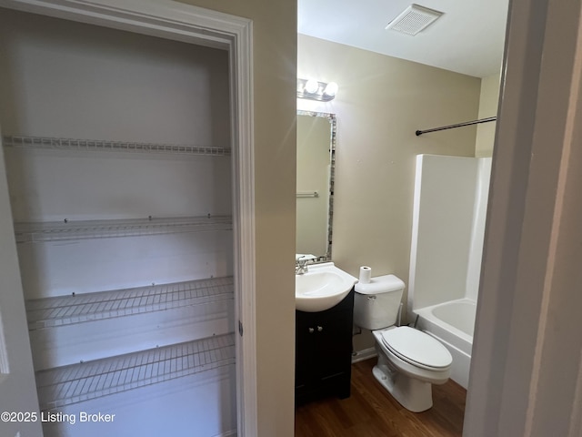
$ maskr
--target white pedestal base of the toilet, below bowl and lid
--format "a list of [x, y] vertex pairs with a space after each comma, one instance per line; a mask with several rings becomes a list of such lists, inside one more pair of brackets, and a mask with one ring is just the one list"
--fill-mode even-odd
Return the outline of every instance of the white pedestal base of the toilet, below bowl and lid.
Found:
[[378, 354], [378, 363], [372, 370], [376, 380], [410, 412], [425, 412], [433, 406], [432, 384], [410, 378], [396, 371], [383, 353]]

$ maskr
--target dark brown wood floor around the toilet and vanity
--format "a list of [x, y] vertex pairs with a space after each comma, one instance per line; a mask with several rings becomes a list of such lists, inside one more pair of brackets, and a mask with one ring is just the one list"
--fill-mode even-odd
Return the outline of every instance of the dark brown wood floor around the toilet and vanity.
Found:
[[326, 398], [296, 408], [296, 437], [460, 437], [466, 391], [454, 381], [433, 386], [433, 408], [409, 412], [376, 381], [376, 359], [352, 366], [347, 399]]

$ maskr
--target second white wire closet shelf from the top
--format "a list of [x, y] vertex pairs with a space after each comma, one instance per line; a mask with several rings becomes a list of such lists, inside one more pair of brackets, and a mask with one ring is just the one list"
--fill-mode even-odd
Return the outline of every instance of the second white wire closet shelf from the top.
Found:
[[17, 243], [59, 241], [67, 239], [106, 239], [143, 237], [232, 229], [231, 216], [182, 217], [156, 219], [68, 220], [15, 223]]

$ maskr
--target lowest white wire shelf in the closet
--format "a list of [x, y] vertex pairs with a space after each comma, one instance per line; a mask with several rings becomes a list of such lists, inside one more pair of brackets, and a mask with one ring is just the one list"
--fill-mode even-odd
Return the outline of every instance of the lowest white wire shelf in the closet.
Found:
[[36, 373], [43, 411], [235, 363], [235, 334], [188, 341]]

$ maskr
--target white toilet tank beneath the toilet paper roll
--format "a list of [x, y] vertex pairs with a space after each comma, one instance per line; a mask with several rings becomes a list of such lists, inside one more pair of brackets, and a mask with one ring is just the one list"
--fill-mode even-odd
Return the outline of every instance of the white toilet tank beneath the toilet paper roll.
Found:
[[405, 283], [394, 275], [378, 276], [366, 284], [356, 283], [354, 324], [379, 330], [396, 323]]

